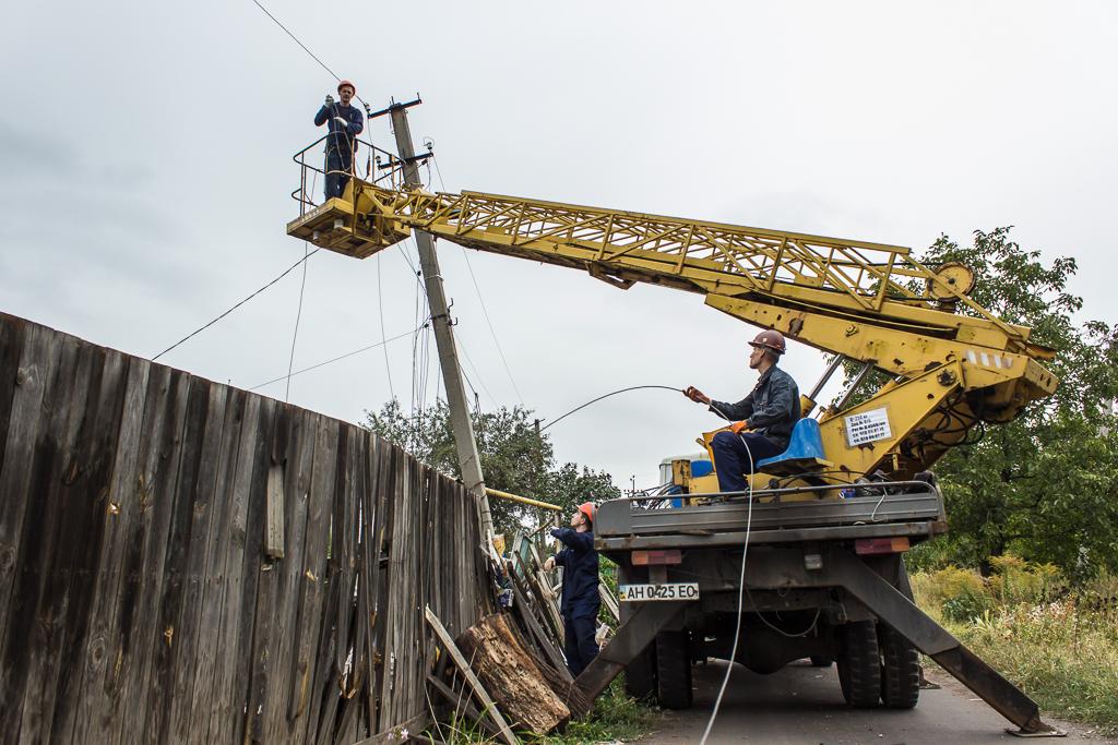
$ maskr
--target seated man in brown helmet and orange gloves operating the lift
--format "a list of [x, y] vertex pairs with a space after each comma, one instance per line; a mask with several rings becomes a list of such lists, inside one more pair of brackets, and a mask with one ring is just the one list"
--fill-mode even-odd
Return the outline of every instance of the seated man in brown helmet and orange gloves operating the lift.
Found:
[[778, 331], [762, 331], [749, 345], [754, 347], [749, 366], [760, 379], [745, 399], [727, 403], [711, 401], [694, 386], [683, 391], [732, 422], [729, 432], [719, 432], [710, 443], [720, 491], [745, 491], [743, 475], [752, 474], [758, 460], [784, 452], [792, 428], [799, 421], [799, 388], [792, 375], [776, 366], [784, 354], [784, 336]]

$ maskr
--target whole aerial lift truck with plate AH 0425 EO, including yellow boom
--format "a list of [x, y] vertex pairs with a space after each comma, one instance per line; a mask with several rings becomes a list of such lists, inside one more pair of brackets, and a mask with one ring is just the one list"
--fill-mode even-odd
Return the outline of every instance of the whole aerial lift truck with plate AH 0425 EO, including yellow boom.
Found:
[[[618, 565], [623, 618], [575, 681], [588, 699], [624, 671], [631, 693], [682, 708], [695, 661], [773, 672], [809, 658], [837, 665], [851, 706], [903, 709], [918, 701], [923, 652], [1018, 733], [1055, 732], [1029, 696], [915, 604], [904, 567], [911, 546], [947, 529], [936, 461], [1059, 384], [1045, 366], [1053, 352], [969, 295], [968, 267], [925, 266], [902, 246], [432, 193], [416, 185], [421, 156], [387, 157], [379, 174], [353, 178], [342, 197], [315, 204], [306, 171], [320, 170], [297, 155], [300, 214], [288, 235], [366, 258], [424, 231], [585, 270], [620, 290], [642, 283], [693, 293], [831, 355], [802, 397], [788, 449], [757, 464], [748, 490], [719, 493], [717, 474], [692, 474], [681, 459], [674, 504], [631, 497], [599, 506], [596, 546]], [[844, 366], [846, 390], [818, 405]]]

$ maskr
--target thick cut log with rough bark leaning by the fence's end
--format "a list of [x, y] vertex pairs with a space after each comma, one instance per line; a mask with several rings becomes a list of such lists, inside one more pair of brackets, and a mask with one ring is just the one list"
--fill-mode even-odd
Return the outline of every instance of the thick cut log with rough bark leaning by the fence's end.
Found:
[[485, 617], [457, 641], [485, 689], [519, 727], [542, 735], [570, 718], [570, 709], [551, 690], [503, 614]]

